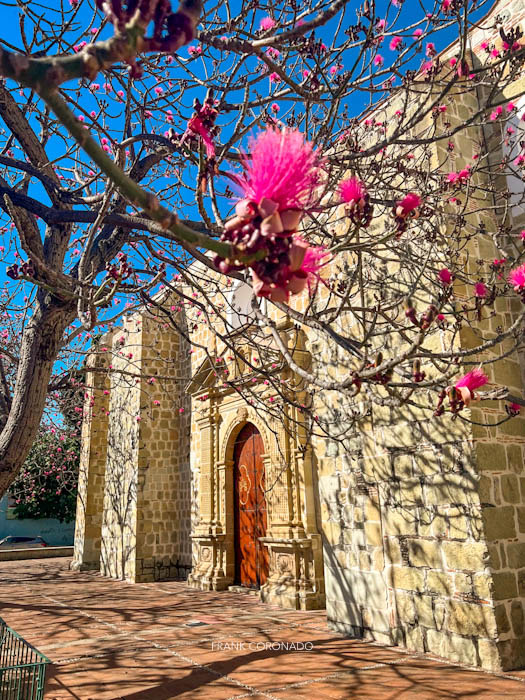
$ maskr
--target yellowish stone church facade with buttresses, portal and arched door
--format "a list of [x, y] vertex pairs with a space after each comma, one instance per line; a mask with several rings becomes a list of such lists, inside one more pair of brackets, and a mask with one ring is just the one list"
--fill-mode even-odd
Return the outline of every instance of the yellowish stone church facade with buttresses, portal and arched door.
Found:
[[[498, 12], [524, 27], [519, 0]], [[473, 35], [474, 53], [484, 38]], [[514, 87], [508, 99], [525, 92], [523, 79]], [[449, 105], [450, 120], [465, 119], [468, 100]], [[460, 137], [458, 169], [480, 136], [473, 127]], [[510, 216], [514, 233], [525, 228], [522, 208]], [[497, 257], [489, 235], [469, 245], [475, 259]], [[231, 293], [245, 304], [246, 289]], [[75, 568], [133, 583], [191, 567], [193, 588], [244, 585], [274, 605], [326, 607], [351, 636], [489, 670], [525, 667], [523, 417], [490, 428], [374, 406], [344, 443], [312, 437], [307, 388], [272, 343], [250, 344], [236, 322], [234, 354], [204, 325], [190, 346], [192, 312], [168, 297], [159, 307], [126, 317], [88, 359]], [[499, 299], [479, 333], [519, 310], [519, 300]], [[275, 322], [298, 367], [333, 360], [311, 330], [283, 315]], [[472, 333], [461, 331], [461, 347], [477, 342]], [[520, 354], [487, 367], [492, 382], [525, 395]], [[277, 413], [257, 408], [274, 400], [268, 376], [290, 399]], [[314, 401], [344, 424], [335, 395]], [[499, 402], [470, 413], [479, 423], [502, 415]]]

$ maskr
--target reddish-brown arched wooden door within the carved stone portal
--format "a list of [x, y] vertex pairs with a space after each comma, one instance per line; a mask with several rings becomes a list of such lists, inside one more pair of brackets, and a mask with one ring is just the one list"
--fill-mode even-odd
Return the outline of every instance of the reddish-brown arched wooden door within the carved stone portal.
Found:
[[260, 588], [268, 578], [264, 493], [264, 445], [257, 428], [248, 423], [239, 433], [233, 451], [235, 514], [235, 580], [241, 586]]

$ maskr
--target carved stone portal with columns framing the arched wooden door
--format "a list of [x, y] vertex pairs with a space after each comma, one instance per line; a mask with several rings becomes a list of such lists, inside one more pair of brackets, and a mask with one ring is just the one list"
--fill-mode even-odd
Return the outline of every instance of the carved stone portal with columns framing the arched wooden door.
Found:
[[[208, 362], [208, 361], [206, 361]], [[206, 364], [206, 363], [204, 363]], [[235, 580], [234, 446], [240, 431], [252, 423], [264, 444], [266, 536], [259, 538], [269, 552], [269, 575], [260, 598], [286, 608], [324, 608], [321, 536], [317, 532], [312, 465], [301, 414], [283, 422], [263, 422], [227, 386], [214, 385], [214, 373], [201, 367], [187, 391], [199, 406], [194, 421], [194, 444], [200, 443], [199, 520], [192, 534], [193, 571], [188, 584], [200, 590], [225, 590]], [[249, 380], [249, 377], [247, 378]], [[264, 391], [264, 387], [260, 387]], [[300, 403], [300, 402], [299, 402]], [[288, 409], [293, 410], [293, 408]], [[303, 438], [304, 439], [304, 438]]]

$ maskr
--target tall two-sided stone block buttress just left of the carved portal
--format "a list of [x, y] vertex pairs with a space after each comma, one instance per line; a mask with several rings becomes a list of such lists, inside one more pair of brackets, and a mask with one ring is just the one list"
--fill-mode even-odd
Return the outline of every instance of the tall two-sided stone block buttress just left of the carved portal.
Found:
[[[185, 348], [184, 348], [185, 349]], [[191, 561], [187, 353], [152, 315], [113, 340], [101, 569], [128, 581], [173, 578]]]

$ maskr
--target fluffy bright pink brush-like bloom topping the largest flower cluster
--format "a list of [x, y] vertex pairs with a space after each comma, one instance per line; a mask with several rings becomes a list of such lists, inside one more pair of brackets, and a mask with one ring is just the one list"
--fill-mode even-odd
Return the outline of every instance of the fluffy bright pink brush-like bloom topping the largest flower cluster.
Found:
[[256, 204], [271, 200], [279, 211], [304, 210], [313, 204], [320, 160], [298, 130], [269, 128], [249, 142], [244, 173], [234, 179], [243, 196]]

